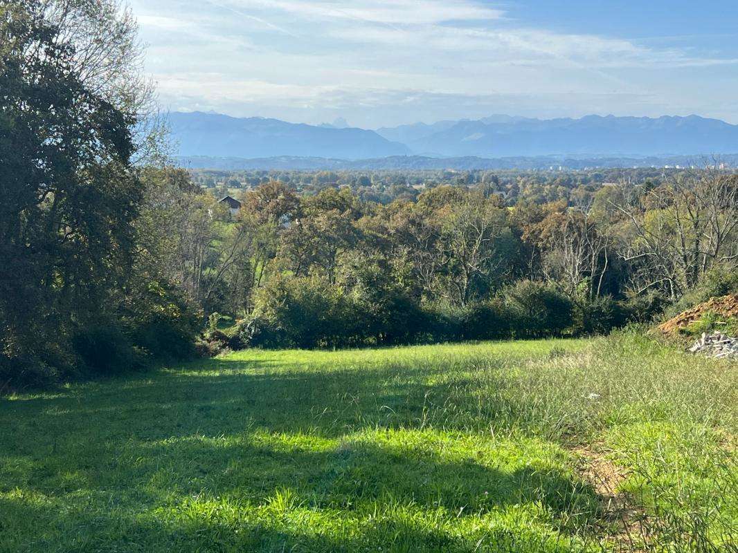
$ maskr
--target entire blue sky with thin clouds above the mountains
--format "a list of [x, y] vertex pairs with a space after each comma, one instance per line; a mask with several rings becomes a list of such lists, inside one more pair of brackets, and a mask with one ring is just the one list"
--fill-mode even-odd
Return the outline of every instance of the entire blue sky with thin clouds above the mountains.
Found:
[[738, 124], [738, 0], [131, 0], [172, 111]]

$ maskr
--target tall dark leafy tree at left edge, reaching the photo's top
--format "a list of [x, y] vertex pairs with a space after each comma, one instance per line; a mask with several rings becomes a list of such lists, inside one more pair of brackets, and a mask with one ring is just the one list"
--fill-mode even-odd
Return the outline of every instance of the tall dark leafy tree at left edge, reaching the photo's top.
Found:
[[64, 339], [104, 312], [127, 277], [148, 105], [131, 78], [135, 33], [114, 1], [0, 0], [6, 359], [65, 351]]

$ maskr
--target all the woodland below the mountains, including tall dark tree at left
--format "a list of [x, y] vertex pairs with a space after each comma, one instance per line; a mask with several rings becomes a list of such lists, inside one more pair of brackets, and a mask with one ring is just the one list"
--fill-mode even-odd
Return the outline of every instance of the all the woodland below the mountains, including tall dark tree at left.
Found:
[[738, 175], [714, 164], [190, 173], [130, 13], [0, 1], [0, 39], [0, 386], [197, 349], [603, 333], [737, 286]]

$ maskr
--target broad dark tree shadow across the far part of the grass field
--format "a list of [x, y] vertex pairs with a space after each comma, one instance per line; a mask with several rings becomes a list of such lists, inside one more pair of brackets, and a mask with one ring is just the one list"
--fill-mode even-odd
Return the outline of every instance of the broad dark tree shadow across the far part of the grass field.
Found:
[[[404, 365], [320, 372], [265, 369], [252, 361], [202, 361], [182, 372], [113, 380], [72, 396], [4, 402], [0, 421], [40, 431], [42, 439], [89, 425], [103, 431], [103, 437], [108, 431], [145, 439], [233, 434], [252, 425], [337, 437], [367, 425], [418, 426], [424, 406], [460, 382], [428, 384], [428, 375], [427, 369]], [[28, 442], [16, 434], [20, 443]]]

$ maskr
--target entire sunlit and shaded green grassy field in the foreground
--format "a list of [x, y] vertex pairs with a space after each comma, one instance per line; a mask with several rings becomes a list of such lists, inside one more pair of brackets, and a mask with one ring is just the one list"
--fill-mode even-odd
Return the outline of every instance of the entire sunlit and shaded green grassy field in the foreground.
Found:
[[737, 370], [635, 334], [0, 400], [0, 552], [736, 551]]

